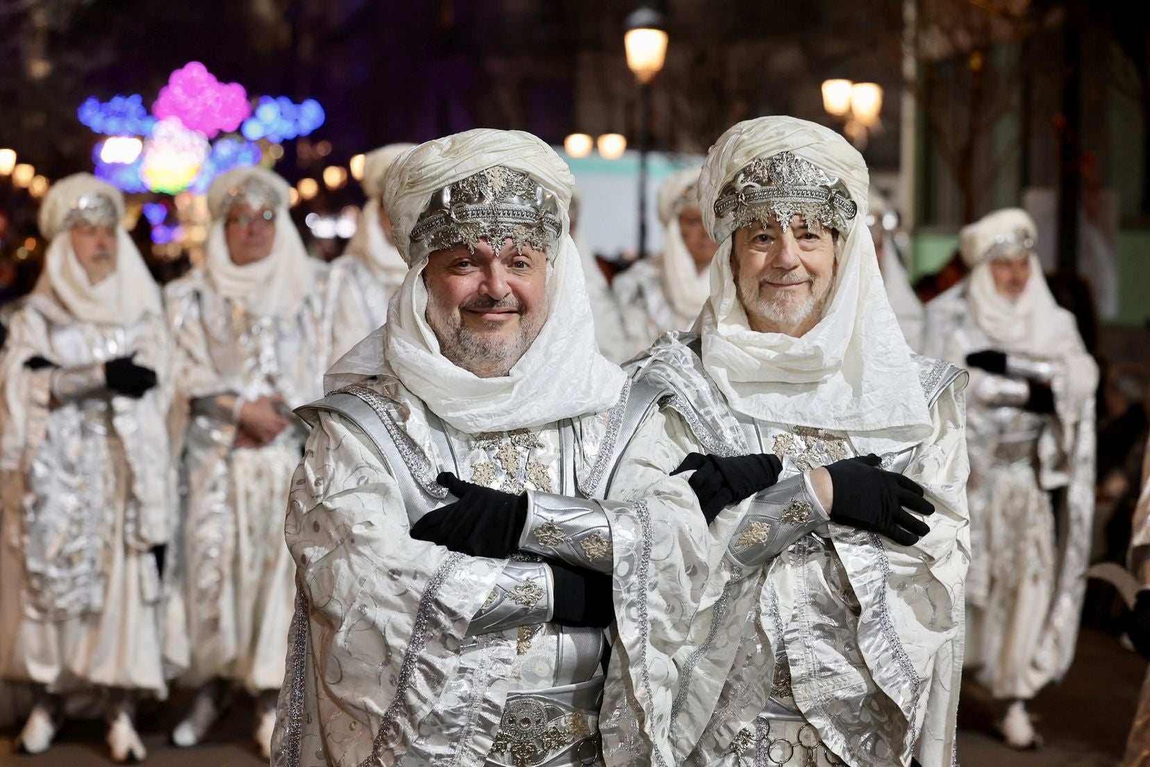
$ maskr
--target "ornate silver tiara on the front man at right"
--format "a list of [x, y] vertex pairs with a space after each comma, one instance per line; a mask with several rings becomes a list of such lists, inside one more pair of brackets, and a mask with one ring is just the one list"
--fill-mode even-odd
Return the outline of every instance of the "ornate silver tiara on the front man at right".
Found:
[[714, 210], [718, 239], [722, 240], [736, 229], [770, 217], [787, 227], [796, 215], [803, 216], [812, 231], [822, 227], [845, 231], [858, 204], [839, 179], [813, 162], [780, 152], [756, 158], [739, 170], [715, 200]]

